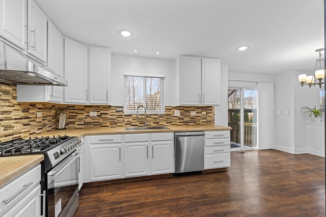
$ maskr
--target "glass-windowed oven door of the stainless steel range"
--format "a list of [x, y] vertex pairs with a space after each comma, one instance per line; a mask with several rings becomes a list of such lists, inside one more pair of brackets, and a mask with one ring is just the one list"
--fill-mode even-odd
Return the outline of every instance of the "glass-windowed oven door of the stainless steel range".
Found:
[[46, 173], [49, 217], [73, 216], [78, 204], [78, 167], [80, 152], [74, 151]]

